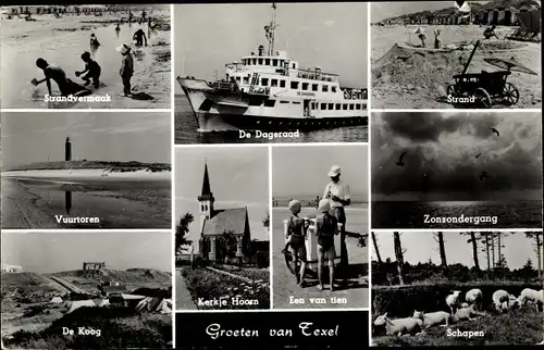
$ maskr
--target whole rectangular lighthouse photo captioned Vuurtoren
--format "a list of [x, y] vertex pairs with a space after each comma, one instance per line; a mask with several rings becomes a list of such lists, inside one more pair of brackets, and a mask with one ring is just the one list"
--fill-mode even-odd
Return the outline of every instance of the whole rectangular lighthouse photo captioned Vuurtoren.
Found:
[[169, 113], [2, 113], [2, 228], [172, 228]]

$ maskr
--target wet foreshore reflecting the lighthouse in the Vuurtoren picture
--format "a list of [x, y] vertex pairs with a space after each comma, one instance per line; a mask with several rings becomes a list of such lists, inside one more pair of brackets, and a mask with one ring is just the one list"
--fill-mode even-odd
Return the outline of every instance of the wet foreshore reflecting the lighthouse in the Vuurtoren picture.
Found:
[[[58, 223], [55, 215], [98, 217]], [[170, 180], [71, 183], [2, 177], [2, 228], [171, 228]]]

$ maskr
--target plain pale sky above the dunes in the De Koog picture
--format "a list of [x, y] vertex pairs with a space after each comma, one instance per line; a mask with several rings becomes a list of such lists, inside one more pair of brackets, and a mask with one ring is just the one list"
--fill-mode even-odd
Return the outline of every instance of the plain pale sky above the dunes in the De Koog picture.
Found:
[[2, 263], [35, 273], [81, 270], [84, 261], [106, 261], [112, 270], [170, 272], [171, 247], [168, 232], [2, 233]]

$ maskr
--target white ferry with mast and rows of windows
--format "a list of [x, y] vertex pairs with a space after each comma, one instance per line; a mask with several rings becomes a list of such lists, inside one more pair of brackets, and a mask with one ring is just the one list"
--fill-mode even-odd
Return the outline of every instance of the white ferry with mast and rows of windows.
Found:
[[311, 130], [368, 123], [367, 89], [339, 86], [336, 74], [301, 68], [286, 51], [274, 50], [276, 5], [264, 26], [268, 51], [225, 65], [224, 79], [177, 77], [200, 132], [238, 129]]

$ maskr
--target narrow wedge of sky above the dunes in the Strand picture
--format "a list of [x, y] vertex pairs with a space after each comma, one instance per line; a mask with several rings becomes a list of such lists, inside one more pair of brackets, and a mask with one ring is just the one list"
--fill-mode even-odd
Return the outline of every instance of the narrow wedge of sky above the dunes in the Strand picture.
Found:
[[[489, 1], [470, 1], [486, 3]], [[403, 14], [411, 14], [421, 11], [436, 11], [447, 8], [455, 8], [455, 1], [410, 1], [410, 2], [372, 2], [370, 4], [371, 23], [376, 23], [385, 18], [397, 17]]]

